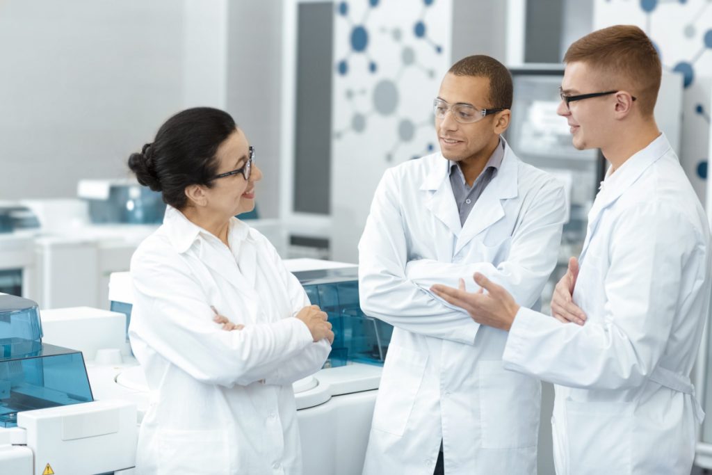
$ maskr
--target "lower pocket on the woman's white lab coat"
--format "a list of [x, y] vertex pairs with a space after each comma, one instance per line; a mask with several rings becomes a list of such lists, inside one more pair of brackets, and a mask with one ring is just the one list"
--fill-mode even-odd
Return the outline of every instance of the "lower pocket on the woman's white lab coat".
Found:
[[159, 429], [157, 435], [157, 475], [218, 475], [232, 468], [224, 429]]

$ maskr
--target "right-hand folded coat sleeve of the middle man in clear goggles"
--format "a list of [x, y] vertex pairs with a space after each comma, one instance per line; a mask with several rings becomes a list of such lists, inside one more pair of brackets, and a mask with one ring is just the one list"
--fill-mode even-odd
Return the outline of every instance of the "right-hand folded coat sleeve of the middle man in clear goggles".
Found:
[[538, 190], [530, 204], [515, 226], [508, 256], [497, 266], [490, 262], [419, 259], [407, 264], [406, 277], [424, 291], [436, 283], [456, 288], [459, 278], [463, 278], [467, 290], [473, 292], [479, 288], [473, 274], [480, 272], [506, 288], [520, 306], [532, 307], [556, 266], [566, 214], [564, 190], [549, 182]]

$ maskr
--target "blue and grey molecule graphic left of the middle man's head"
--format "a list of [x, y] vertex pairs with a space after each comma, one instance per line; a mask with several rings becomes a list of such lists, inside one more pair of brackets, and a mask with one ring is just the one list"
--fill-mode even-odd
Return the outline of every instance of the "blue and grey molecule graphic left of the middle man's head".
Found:
[[[427, 7], [434, 4], [434, 0], [422, 0], [424, 9], [419, 19], [414, 24], [410, 34], [407, 31], [404, 33], [399, 28], [394, 28], [392, 31], [382, 29], [380, 33], [385, 34], [376, 35], [370, 34], [372, 32], [367, 28], [367, 17], [369, 16], [370, 10], [378, 6], [379, 0], [361, 1], [367, 2], [368, 8], [366, 9], [364, 18], [361, 19], [358, 24], [353, 24], [348, 16], [350, 8], [347, 1], [342, 1], [336, 6], [337, 14], [349, 21], [350, 25], [350, 38], [348, 38], [350, 51], [346, 58], [337, 60], [335, 64], [336, 71], [340, 75], [347, 75], [350, 71], [352, 71], [352, 68], [357, 67], [355, 64], [350, 65], [350, 58], [352, 58], [352, 55], [355, 56], [356, 54], [365, 55], [367, 71], [372, 74], [376, 74], [379, 71], [379, 68], [377, 63], [368, 56], [368, 50], [369, 48], [377, 48], [377, 45], [374, 43], [378, 41], [401, 43], [404, 40], [404, 36], [406, 36], [407, 38], [412, 38], [412, 40], [414, 40], [413, 44], [416, 46], [419, 43], [424, 43], [427, 46], [434, 48], [436, 53], [442, 53], [442, 47], [434, 43], [434, 41], [428, 37], [428, 28], [425, 21]], [[373, 114], [386, 117], [389, 121], [392, 120], [394, 129], [391, 133], [394, 136], [394, 145], [387, 151], [385, 156], [386, 160], [389, 162], [397, 158], [397, 150], [400, 145], [414, 140], [417, 135], [417, 130], [420, 127], [432, 127], [434, 123], [431, 115], [427, 115], [427, 117], [420, 122], [414, 122], [412, 118], [405, 118], [399, 115], [398, 110], [401, 98], [398, 86], [404, 71], [406, 71], [407, 68], [417, 68], [429, 78], [434, 78], [435, 71], [418, 63], [417, 51], [413, 46], [403, 46], [400, 58], [398, 59], [401, 66], [394, 78], [380, 78], [375, 82], [375, 85], [370, 91], [360, 90], [356, 92], [351, 89], [345, 91], [345, 98], [352, 104], [352, 109], [355, 109], [353, 100], [355, 100], [356, 96], [364, 94], [370, 95], [371, 108], [365, 112], [354, 111], [349, 127], [345, 130], [337, 130], [334, 132], [334, 137], [337, 140], [342, 138], [347, 132], [355, 132], [359, 134], [363, 133], [367, 130], [369, 118]], [[355, 61], [352, 62], [355, 63]], [[423, 148], [423, 153], [433, 152], [434, 147], [434, 144], [427, 143]]]

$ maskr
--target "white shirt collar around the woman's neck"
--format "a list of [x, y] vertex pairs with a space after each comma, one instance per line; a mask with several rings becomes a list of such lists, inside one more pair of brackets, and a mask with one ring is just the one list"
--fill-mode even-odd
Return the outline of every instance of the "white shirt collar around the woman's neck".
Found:
[[[239, 219], [232, 217], [229, 226], [228, 242], [231, 247], [241, 241], [251, 239], [250, 226]], [[166, 206], [162, 227], [173, 248], [179, 254], [190, 249], [197, 239], [218, 239], [214, 234], [190, 221], [182, 212], [170, 205]]]

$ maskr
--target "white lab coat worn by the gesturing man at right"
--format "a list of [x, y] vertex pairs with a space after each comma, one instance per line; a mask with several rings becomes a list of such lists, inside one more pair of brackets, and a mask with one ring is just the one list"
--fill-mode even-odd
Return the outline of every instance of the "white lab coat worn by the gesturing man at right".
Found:
[[[520, 310], [505, 367], [555, 382], [556, 473], [689, 474], [689, 374], [710, 300], [710, 232], [661, 135], [609, 174], [573, 298], [585, 325]], [[672, 389], [674, 388], [674, 389]]]

